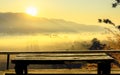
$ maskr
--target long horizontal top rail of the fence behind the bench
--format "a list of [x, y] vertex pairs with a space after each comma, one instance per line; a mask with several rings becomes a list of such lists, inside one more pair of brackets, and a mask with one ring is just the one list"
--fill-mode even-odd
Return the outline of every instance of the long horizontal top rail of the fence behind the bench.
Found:
[[15, 51], [15, 50], [0, 50], [0, 54], [20, 54], [20, 53], [120, 53], [120, 50], [36, 50], [36, 51]]

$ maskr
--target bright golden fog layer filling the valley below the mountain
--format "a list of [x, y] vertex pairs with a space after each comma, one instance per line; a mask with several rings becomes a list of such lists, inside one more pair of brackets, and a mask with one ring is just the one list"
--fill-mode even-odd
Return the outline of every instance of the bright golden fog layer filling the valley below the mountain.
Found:
[[71, 49], [74, 42], [90, 42], [93, 38], [105, 40], [107, 35], [104, 33], [4, 35], [0, 37], [0, 50], [65, 50]]

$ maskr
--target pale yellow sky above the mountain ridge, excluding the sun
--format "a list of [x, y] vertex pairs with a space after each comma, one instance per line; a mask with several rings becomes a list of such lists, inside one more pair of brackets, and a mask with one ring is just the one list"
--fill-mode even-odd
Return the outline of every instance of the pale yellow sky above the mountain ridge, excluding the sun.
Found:
[[109, 18], [120, 24], [120, 6], [114, 0], [0, 0], [0, 12], [25, 12], [33, 6], [38, 17], [65, 19], [81, 24], [99, 24], [98, 18]]

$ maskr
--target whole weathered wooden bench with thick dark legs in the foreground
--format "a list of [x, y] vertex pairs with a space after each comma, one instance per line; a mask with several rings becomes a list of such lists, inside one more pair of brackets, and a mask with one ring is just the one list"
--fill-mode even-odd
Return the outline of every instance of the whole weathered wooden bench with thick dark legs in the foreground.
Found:
[[68, 64], [74, 62], [96, 63], [98, 75], [109, 75], [113, 58], [106, 53], [41, 53], [18, 54], [11, 60], [17, 75], [27, 75], [29, 64]]

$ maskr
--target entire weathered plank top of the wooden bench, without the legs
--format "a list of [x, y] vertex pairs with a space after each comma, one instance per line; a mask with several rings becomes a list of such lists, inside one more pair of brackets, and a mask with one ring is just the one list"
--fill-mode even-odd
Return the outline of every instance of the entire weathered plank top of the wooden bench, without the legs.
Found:
[[[14, 61], [24, 60], [24, 61], [41, 61], [41, 60], [77, 60], [77, 61], [86, 61], [86, 60], [113, 60], [112, 57], [108, 56], [105, 53], [88, 53], [83, 54], [79, 53], [78, 55], [73, 54], [18, 54]], [[29, 62], [29, 61], [28, 61]]]

